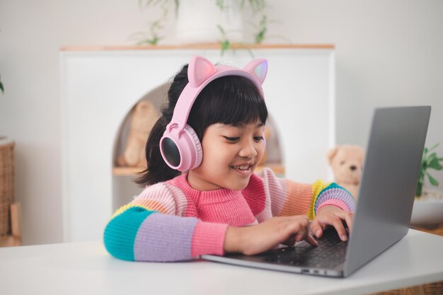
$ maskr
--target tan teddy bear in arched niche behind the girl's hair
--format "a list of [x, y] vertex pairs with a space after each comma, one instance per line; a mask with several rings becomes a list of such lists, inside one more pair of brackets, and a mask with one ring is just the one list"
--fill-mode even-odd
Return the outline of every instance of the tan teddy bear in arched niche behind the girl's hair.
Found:
[[120, 166], [146, 167], [144, 147], [159, 117], [159, 111], [149, 100], [141, 100], [135, 105], [131, 112], [125, 152], [118, 161]]

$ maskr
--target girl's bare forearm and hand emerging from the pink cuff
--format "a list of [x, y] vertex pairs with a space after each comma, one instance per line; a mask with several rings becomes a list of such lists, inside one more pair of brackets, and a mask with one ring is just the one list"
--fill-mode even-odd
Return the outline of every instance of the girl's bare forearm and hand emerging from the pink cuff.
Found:
[[318, 245], [309, 235], [309, 219], [306, 215], [274, 217], [255, 226], [228, 226], [224, 239], [226, 252], [254, 255], [285, 243], [294, 245], [295, 241], [305, 240]]

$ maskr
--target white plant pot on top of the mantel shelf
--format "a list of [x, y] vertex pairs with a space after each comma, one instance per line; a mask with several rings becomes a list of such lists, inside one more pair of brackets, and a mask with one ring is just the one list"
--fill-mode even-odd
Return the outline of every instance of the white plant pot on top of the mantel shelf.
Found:
[[240, 1], [224, 1], [221, 10], [215, 1], [184, 0], [178, 7], [177, 39], [180, 43], [214, 43], [222, 40], [217, 25], [222, 26], [230, 42], [243, 40], [243, 17]]

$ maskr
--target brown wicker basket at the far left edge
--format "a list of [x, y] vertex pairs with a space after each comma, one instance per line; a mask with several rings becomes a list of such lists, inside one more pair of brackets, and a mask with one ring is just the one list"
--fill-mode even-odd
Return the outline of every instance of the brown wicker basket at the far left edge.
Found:
[[11, 204], [14, 202], [14, 141], [0, 137], [0, 237], [11, 235]]

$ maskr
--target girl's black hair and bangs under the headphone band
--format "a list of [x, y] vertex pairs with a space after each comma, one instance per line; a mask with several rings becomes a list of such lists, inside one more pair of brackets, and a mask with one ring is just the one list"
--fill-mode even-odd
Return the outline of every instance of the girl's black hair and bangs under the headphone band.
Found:
[[192, 106], [188, 124], [202, 139], [212, 124], [240, 126], [267, 120], [265, 100], [255, 85], [241, 76], [225, 76], [209, 83]]

